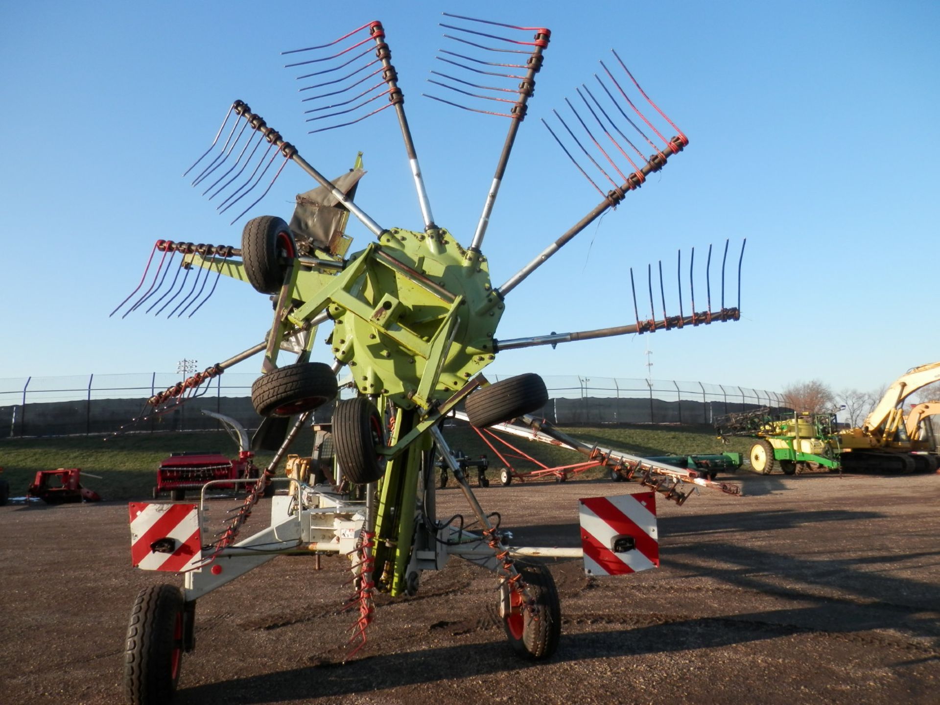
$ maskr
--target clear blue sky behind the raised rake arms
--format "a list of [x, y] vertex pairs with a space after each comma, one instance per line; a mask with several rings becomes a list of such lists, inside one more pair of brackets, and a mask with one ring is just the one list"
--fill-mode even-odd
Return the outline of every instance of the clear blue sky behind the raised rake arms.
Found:
[[[107, 317], [156, 239], [239, 243], [241, 224], [228, 226], [180, 178], [234, 99], [329, 176], [362, 149], [358, 203], [385, 227], [420, 229], [392, 112], [307, 135], [295, 74], [279, 55], [372, 19], [387, 31], [435, 219], [468, 242], [507, 123], [420, 97], [442, 9], [553, 30], [484, 246], [496, 284], [598, 202], [538, 118], [592, 80], [610, 48], [690, 138], [661, 175], [509, 295], [498, 337], [632, 322], [630, 266], [662, 258], [672, 272], [680, 247], [701, 257], [708, 243], [746, 237], [742, 321], [649, 336], [653, 377], [870, 389], [940, 359], [936, 3], [478, 2], [471, 11], [6, 0], [0, 378], [171, 372], [180, 358], [201, 367], [263, 337], [266, 297], [225, 280], [192, 319]], [[244, 219], [289, 218], [293, 195], [312, 186], [289, 164]], [[358, 224], [350, 233], [360, 246], [370, 239]], [[644, 377], [645, 338], [505, 352], [492, 369]]]

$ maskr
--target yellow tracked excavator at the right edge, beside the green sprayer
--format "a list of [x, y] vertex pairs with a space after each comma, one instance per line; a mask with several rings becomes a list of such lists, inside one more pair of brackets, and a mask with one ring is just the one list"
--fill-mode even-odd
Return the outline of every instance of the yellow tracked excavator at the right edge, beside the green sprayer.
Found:
[[[842, 466], [846, 470], [935, 472], [940, 456], [932, 452], [932, 438], [926, 433], [921, 438], [920, 421], [940, 413], [940, 403], [931, 402], [934, 407], [919, 412], [915, 407], [906, 419], [903, 408], [904, 399], [934, 382], [940, 382], [940, 362], [911, 368], [895, 380], [861, 427], [840, 431]], [[913, 434], [909, 424], [913, 424]]]

